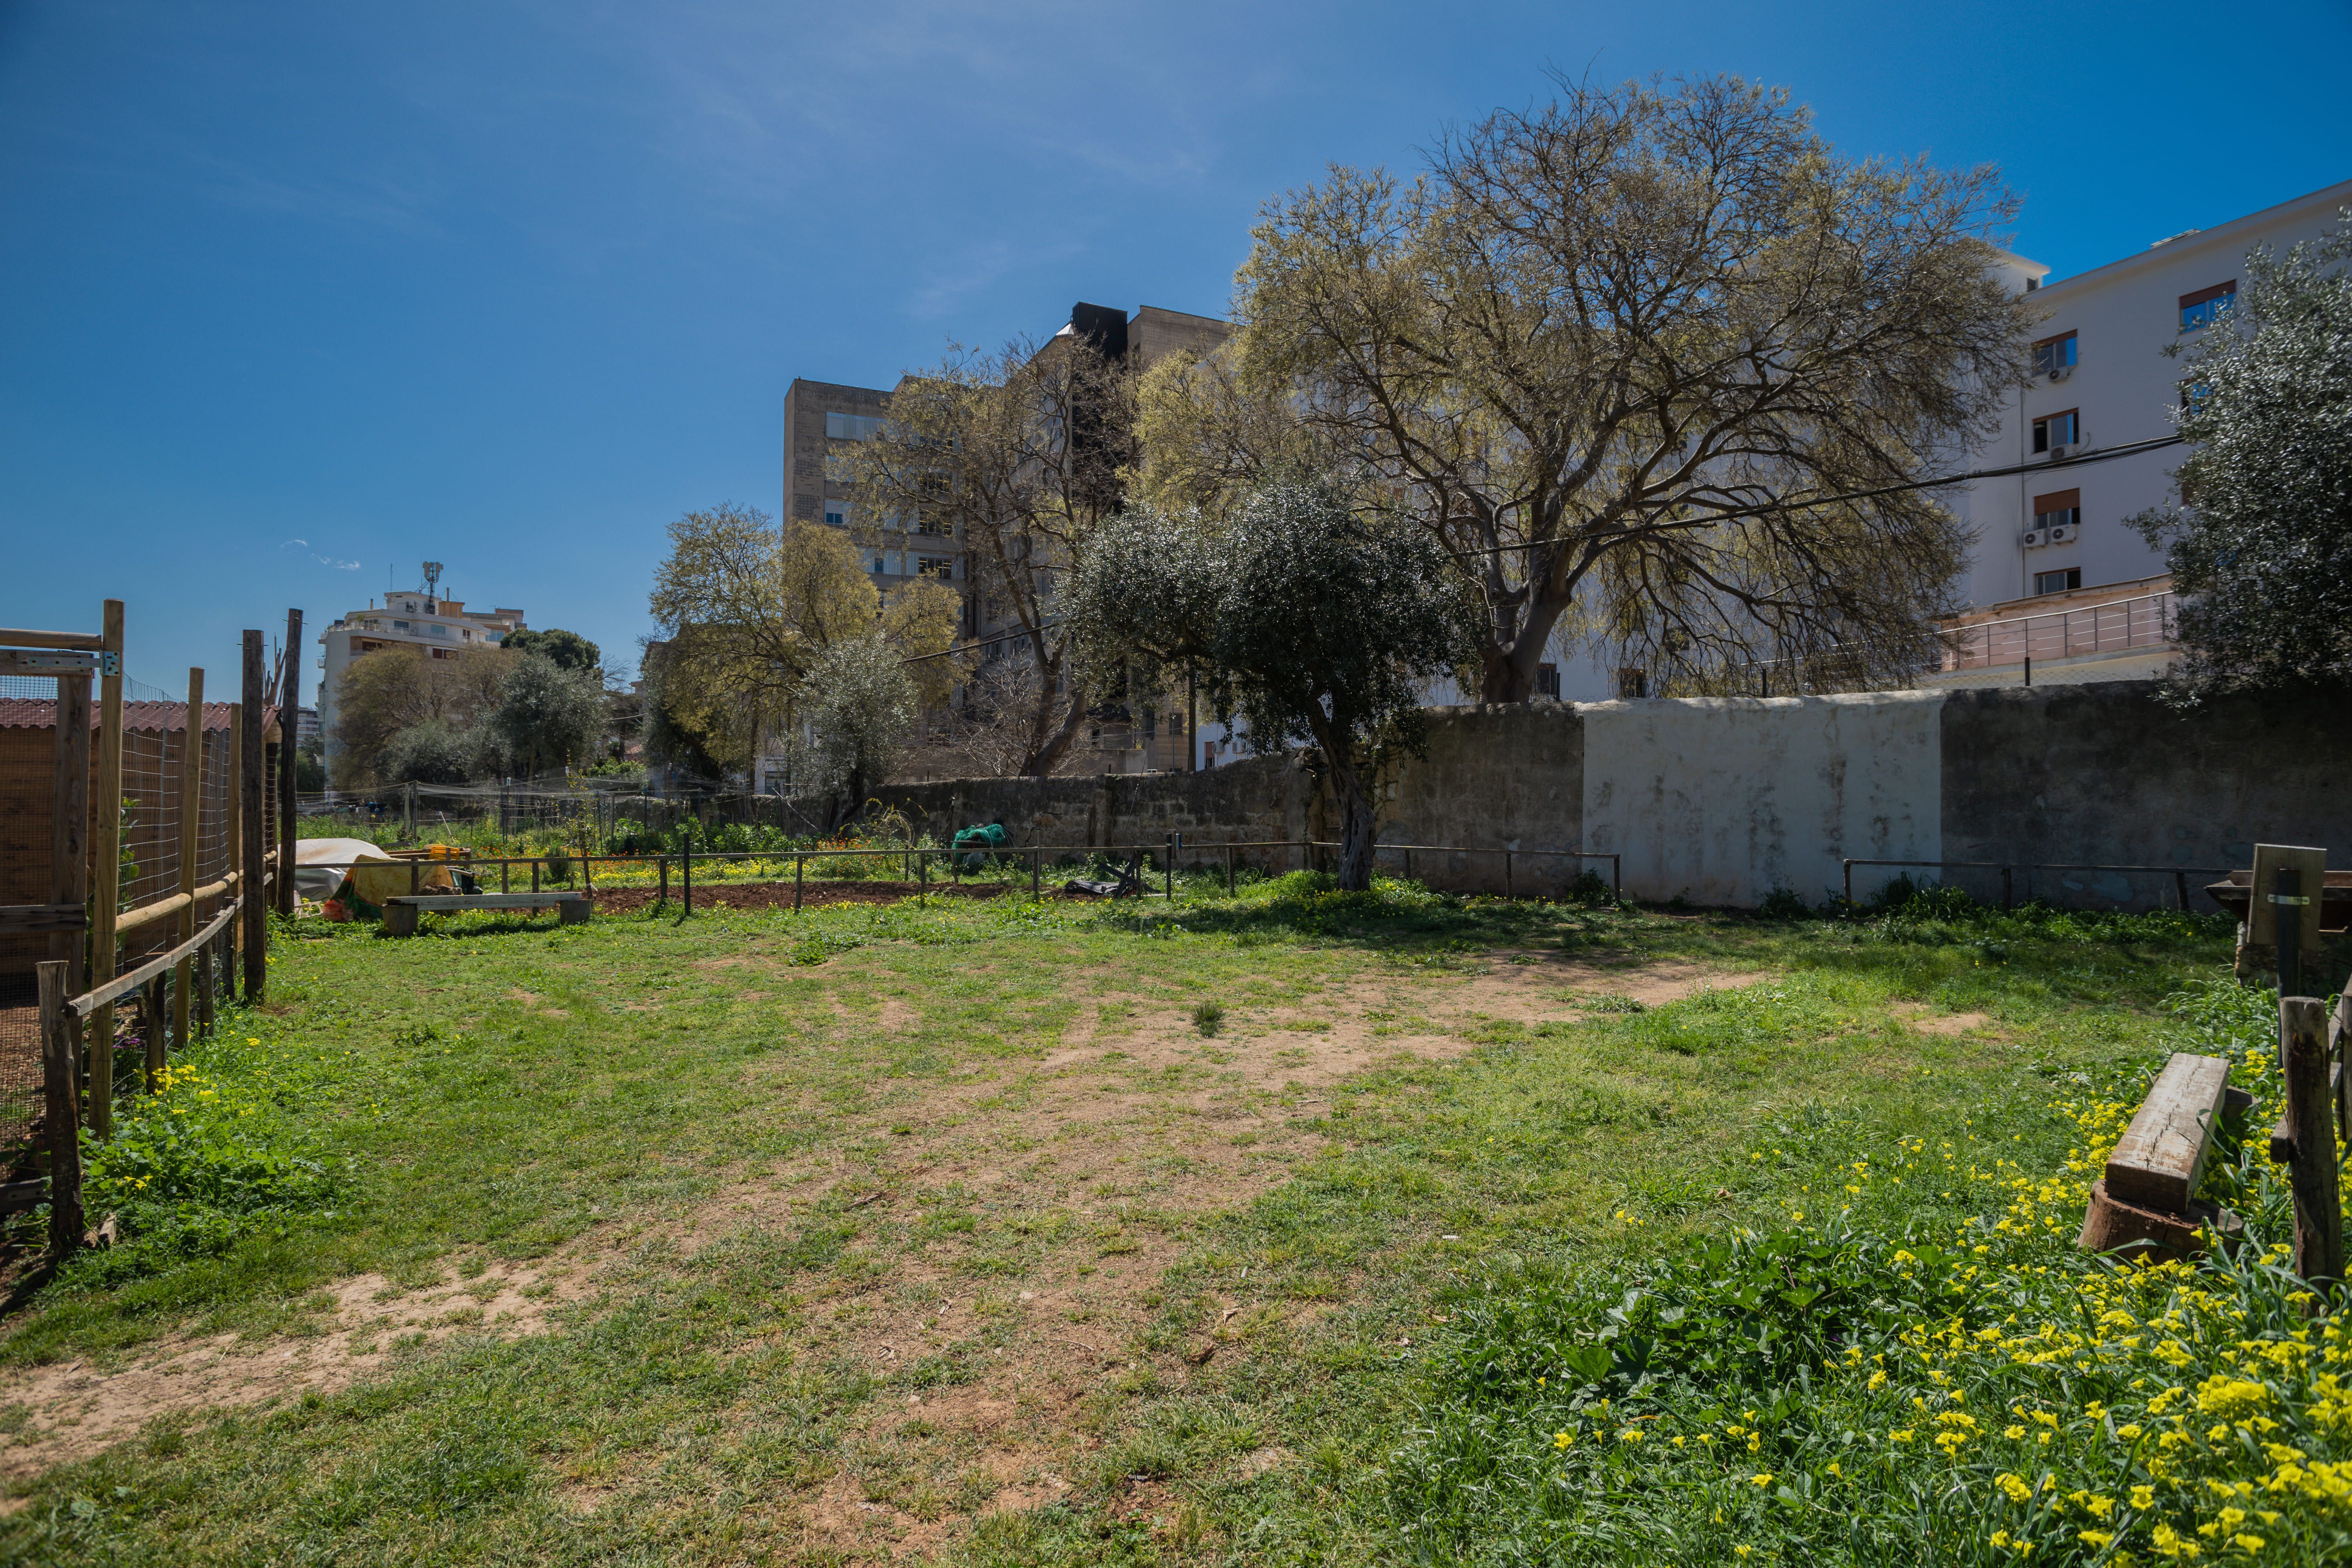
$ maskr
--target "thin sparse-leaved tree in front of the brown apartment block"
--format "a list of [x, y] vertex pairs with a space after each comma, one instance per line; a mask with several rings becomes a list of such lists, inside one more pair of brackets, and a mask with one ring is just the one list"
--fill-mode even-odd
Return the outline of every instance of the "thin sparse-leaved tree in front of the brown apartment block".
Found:
[[[1011, 708], [974, 719], [1009, 743], [1014, 773], [1051, 773], [1087, 722], [1054, 592], [1117, 512], [1131, 458], [1129, 367], [1063, 331], [950, 353], [903, 378], [875, 440], [837, 463], [863, 545], [920, 548], [924, 534], [964, 541], [974, 623], [1009, 639], [988, 663], [1028, 668], [967, 684], [967, 701]], [[964, 663], [981, 668], [978, 656]]]

